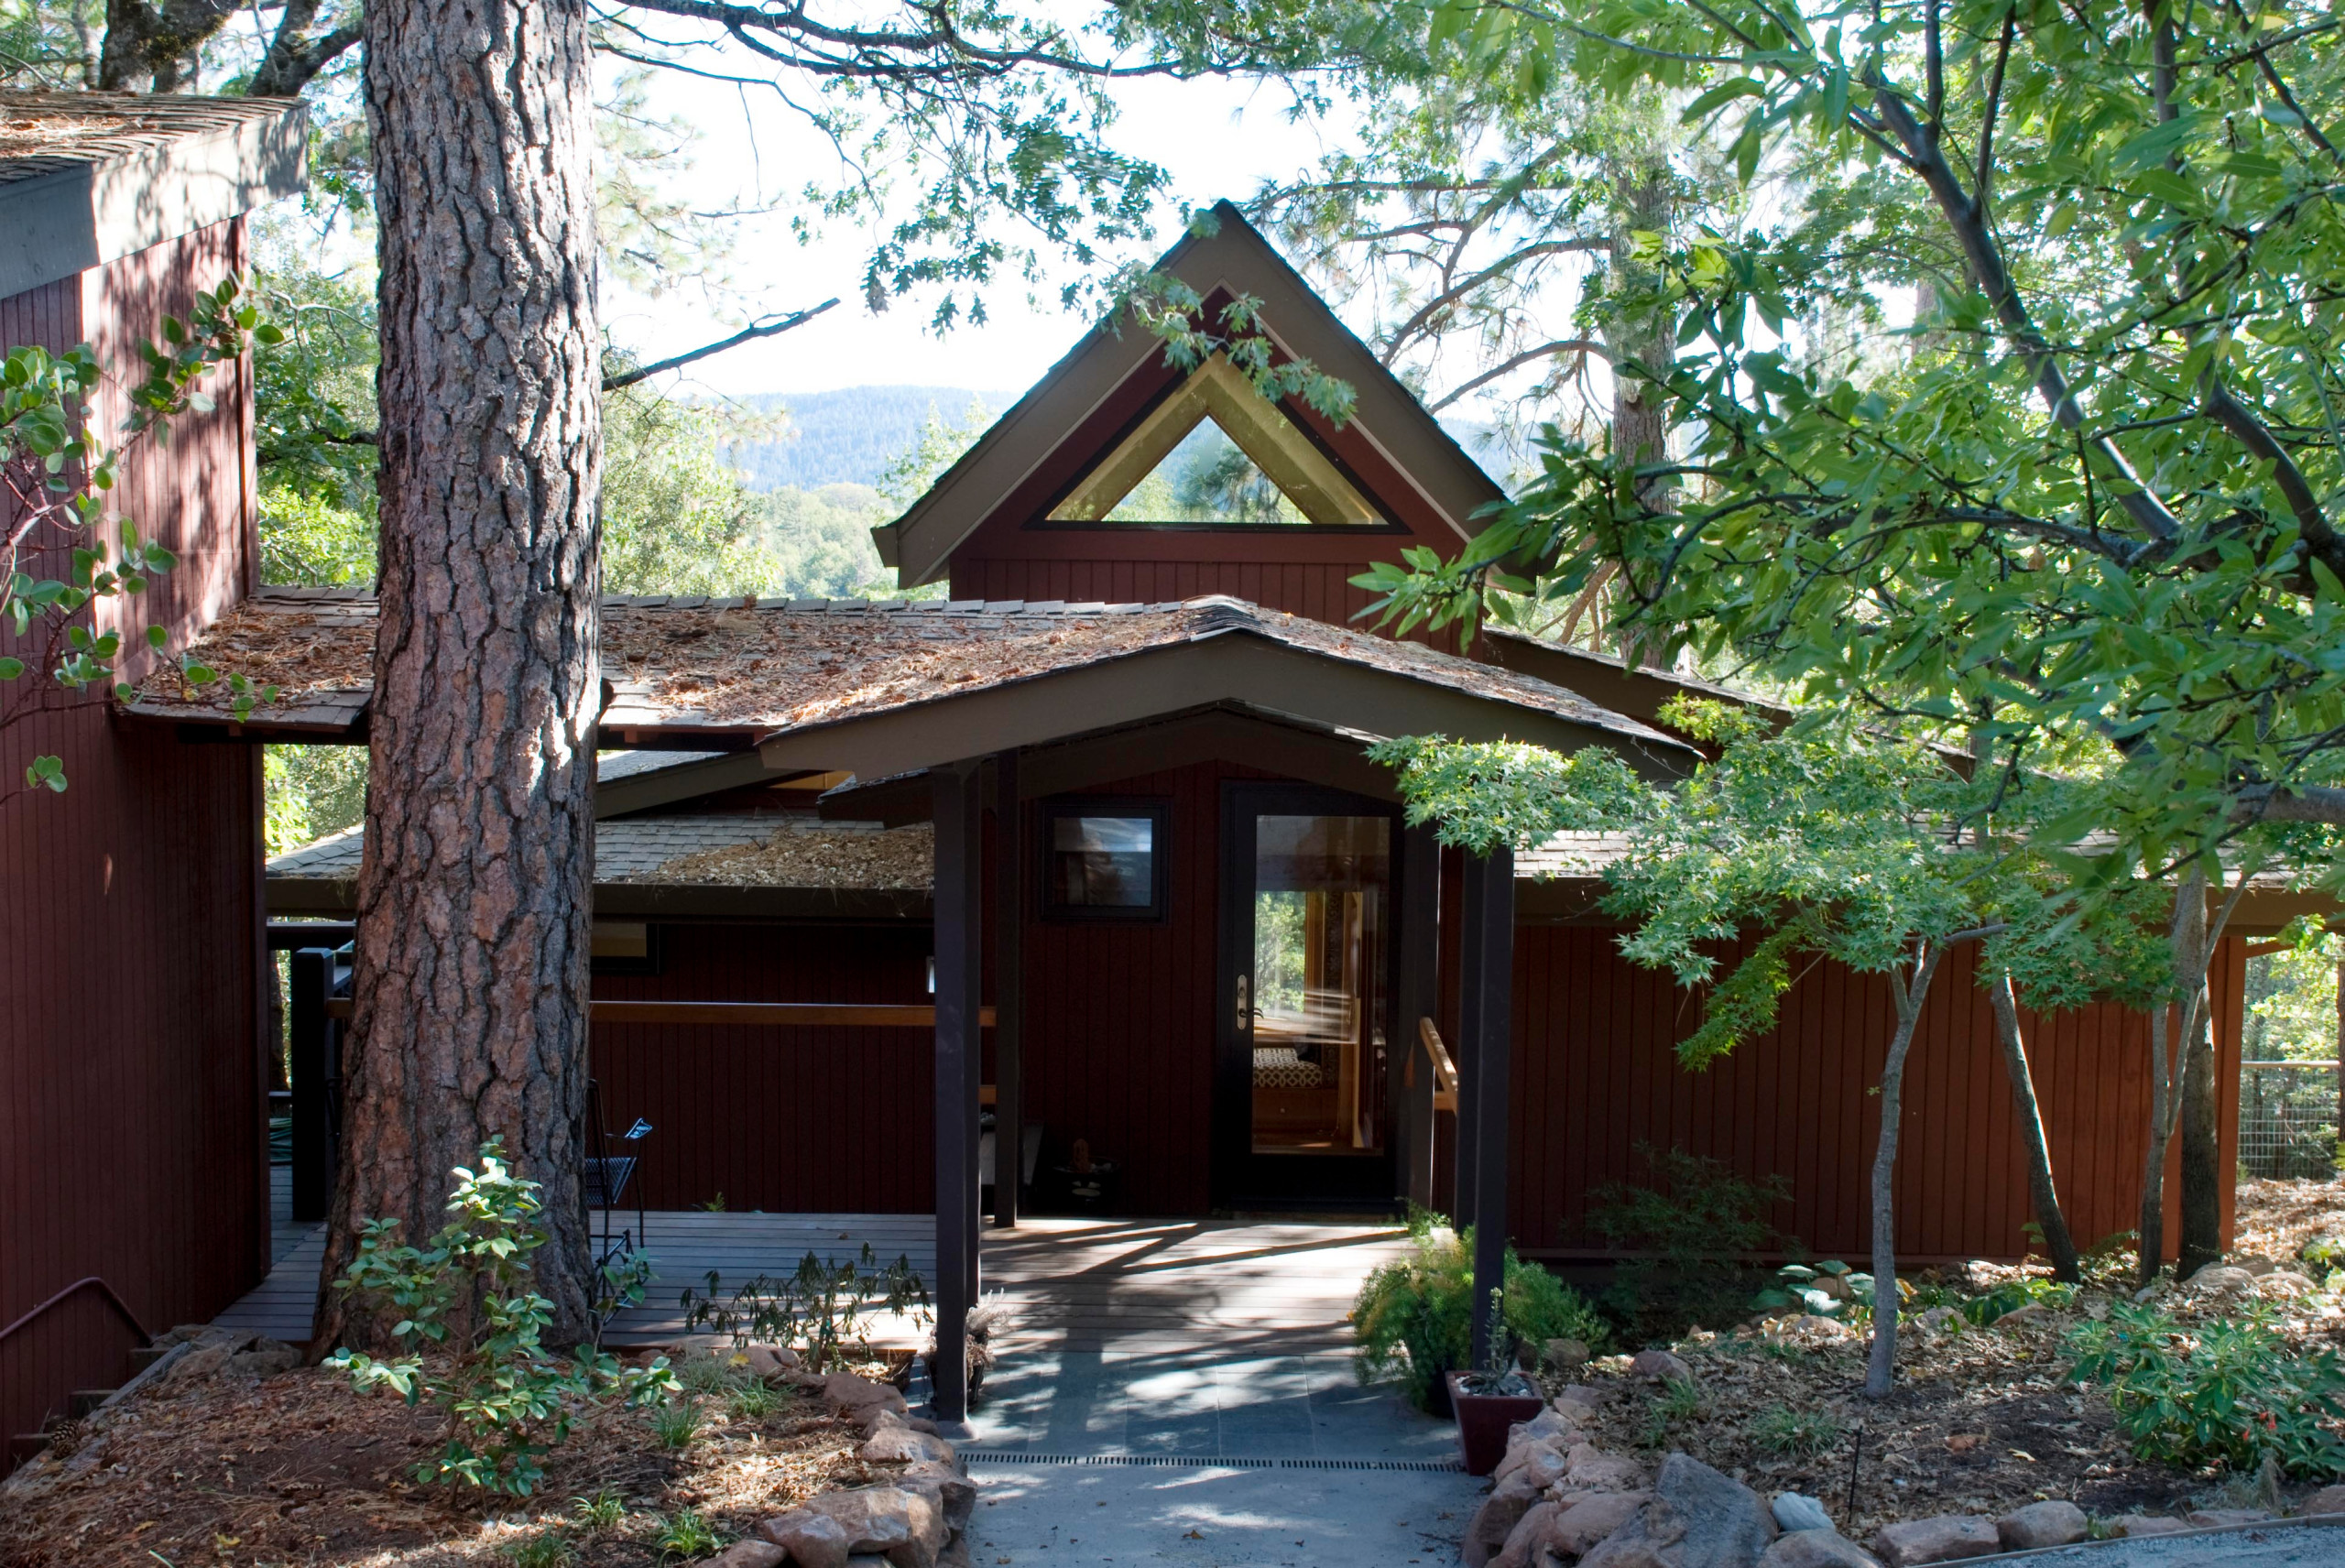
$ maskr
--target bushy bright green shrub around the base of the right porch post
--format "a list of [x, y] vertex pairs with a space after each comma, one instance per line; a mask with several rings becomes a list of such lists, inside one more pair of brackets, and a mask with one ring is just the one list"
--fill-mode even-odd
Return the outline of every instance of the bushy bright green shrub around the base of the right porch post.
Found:
[[[1520, 1341], [1604, 1343], [1604, 1320], [1569, 1284], [1505, 1249], [1505, 1329]], [[1473, 1230], [1449, 1230], [1440, 1214], [1409, 1209], [1409, 1252], [1379, 1266], [1351, 1308], [1362, 1383], [1398, 1376], [1416, 1409], [1433, 1409], [1442, 1373], [1473, 1352]]]

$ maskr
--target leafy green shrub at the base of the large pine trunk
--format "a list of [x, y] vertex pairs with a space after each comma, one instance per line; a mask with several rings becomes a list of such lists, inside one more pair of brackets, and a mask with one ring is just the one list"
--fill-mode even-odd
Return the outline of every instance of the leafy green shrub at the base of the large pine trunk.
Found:
[[455, 1170], [453, 1219], [429, 1247], [396, 1245], [396, 1219], [361, 1221], [359, 1256], [335, 1289], [399, 1308], [392, 1336], [408, 1355], [378, 1359], [345, 1348], [326, 1366], [359, 1392], [387, 1388], [448, 1413], [448, 1441], [415, 1467], [420, 1481], [528, 1495], [544, 1479], [539, 1458], [570, 1437], [582, 1402], [619, 1395], [640, 1404], [673, 1378], [666, 1359], [621, 1371], [593, 1345], [570, 1362], [542, 1345], [553, 1303], [528, 1289], [530, 1254], [546, 1242], [537, 1184], [514, 1177], [497, 1139], [481, 1146], [478, 1163], [478, 1172]]

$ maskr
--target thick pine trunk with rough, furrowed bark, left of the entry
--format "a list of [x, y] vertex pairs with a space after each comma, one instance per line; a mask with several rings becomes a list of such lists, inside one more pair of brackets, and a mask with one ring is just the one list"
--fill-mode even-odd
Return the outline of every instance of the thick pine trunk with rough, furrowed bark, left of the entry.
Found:
[[[328, 1280], [502, 1137], [586, 1331], [600, 363], [584, 0], [373, 0], [382, 630]], [[324, 1343], [380, 1320], [321, 1291]]]

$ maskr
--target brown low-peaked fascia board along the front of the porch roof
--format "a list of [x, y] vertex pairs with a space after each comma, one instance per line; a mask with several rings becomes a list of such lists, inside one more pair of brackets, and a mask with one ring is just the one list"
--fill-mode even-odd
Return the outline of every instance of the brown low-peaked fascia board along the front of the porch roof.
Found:
[[[1278, 694], [1264, 708], [1262, 694]], [[1348, 663], [1245, 630], [1055, 670], [1027, 680], [936, 696], [872, 715], [786, 729], [757, 750], [772, 769], [847, 771], [884, 778], [1022, 745], [1072, 741], [1119, 724], [1189, 713], [1205, 703], [1248, 703], [1301, 724], [1374, 734], [1442, 734], [1456, 741], [1534, 741], [1557, 750], [1613, 745], [1642, 773], [1674, 771], [1634, 736], [1459, 691], [1398, 670]], [[1147, 771], [1135, 736], [1133, 771]]]

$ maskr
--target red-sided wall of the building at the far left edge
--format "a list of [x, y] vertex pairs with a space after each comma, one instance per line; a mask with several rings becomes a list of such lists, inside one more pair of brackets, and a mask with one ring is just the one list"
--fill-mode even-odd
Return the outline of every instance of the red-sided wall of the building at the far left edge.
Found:
[[[0, 300], [0, 349], [91, 340], [113, 377], [162, 309], [244, 265], [242, 223]], [[110, 511], [181, 570], [108, 607], [138, 673], [148, 623], [174, 640], [253, 572], [251, 373], [209, 415], [145, 443]], [[120, 422], [120, 387], [98, 417]], [[56, 551], [26, 563], [61, 574]], [[30, 640], [26, 640], [30, 642]], [[0, 633], [0, 647], [23, 654]], [[0, 788], [42, 752], [66, 795], [0, 804], [0, 1327], [96, 1275], [148, 1329], [211, 1317], [267, 1266], [260, 1078], [260, 755], [117, 724], [103, 696], [42, 675], [0, 698]], [[38, 1432], [73, 1388], [110, 1388], [134, 1336], [82, 1291], [0, 1343], [0, 1437]]]

